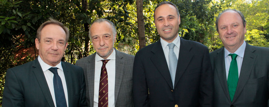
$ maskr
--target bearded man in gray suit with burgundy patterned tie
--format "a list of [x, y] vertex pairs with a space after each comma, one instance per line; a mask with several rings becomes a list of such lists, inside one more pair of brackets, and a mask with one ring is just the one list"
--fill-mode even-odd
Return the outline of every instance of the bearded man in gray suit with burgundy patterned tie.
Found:
[[96, 53], [79, 59], [84, 69], [86, 98], [90, 107], [132, 107], [134, 56], [116, 50], [116, 27], [106, 19], [95, 20], [89, 36]]

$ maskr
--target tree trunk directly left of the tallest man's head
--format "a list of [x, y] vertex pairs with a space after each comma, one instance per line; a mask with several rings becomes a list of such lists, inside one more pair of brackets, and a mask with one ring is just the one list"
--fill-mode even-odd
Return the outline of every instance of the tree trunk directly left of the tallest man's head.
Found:
[[145, 22], [143, 19], [143, 0], [137, 0], [137, 21], [138, 21], [138, 40], [139, 40], [139, 50], [146, 46], [146, 36], [145, 36]]

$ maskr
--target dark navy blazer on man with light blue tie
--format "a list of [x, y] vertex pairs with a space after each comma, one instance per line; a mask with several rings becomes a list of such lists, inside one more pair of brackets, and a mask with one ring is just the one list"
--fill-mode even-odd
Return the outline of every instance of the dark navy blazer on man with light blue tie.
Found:
[[180, 38], [174, 88], [160, 40], [142, 48], [135, 55], [133, 94], [135, 107], [212, 107], [208, 48]]

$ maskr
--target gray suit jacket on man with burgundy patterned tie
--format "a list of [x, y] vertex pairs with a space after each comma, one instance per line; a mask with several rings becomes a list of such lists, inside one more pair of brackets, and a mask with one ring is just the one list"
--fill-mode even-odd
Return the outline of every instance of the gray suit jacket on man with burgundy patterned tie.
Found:
[[[115, 71], [115, 107], [133, 106], [133, 64], [134, 56], [116, 50], [116, 71]], [[76, 65], [82, 67], [86, 80], [86, 98], [90, 107], [94, 105], [94, 71], [96, 53], [79, 59]]]

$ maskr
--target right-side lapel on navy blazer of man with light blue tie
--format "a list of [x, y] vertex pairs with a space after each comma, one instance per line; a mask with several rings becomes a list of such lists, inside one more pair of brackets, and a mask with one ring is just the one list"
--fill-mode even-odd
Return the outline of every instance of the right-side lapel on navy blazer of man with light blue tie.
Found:
[[182, 74], [185, 72], [186, 68], [188, 67], [190, 60], [193, 57], [193, 53], [190, 52], [192, 46], [186, 42], [185, 39], [180, 38], [180, 48], [179, 48], [179, 58], [178, 64], [175, 74], [175, 84], [177, 85], [179, 79], [181, 78]]

